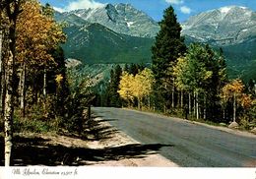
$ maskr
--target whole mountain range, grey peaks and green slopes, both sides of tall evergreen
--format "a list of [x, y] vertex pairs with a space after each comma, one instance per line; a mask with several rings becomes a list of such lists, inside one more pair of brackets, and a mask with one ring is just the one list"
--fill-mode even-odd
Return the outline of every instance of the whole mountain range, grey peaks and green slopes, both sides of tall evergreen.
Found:
[[[150, 63], [159, 25], [130, 4], [55, 13], [68, 25], [63, 44], [67, 58], [88, 64]], [[256, 60], [256, 13], [228, 6], [201, 13], [182, 25], [186, 42], [223, 48], [229, 76], [250, 77]], [[256, 77], [255, 77], [256, 79]]]

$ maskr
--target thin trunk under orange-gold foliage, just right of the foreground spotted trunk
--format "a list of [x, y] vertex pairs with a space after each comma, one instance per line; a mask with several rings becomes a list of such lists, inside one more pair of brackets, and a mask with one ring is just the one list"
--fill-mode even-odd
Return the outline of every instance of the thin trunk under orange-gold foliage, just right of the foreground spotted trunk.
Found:
[[20, 108], [23, 112], [23, 117], [25, 117], [25, 96], [26, 96], [25, 82], [26, 82], [26, 64], [25, 62], [23, 62], [22, 72], [20, 77], [20, 102], [21, 102]]

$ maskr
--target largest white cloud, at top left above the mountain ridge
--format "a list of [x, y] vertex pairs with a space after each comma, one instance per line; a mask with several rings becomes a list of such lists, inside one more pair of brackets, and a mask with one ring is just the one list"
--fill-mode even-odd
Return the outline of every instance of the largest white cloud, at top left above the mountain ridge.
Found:
[[65, 12], [78, 9], [96, 9], [102, 6], [104, 6], [104, 4], [96, 2], [95, 0], [75, 0], [69, 2], [69, 4], [65, 8], [54, 7], [54, 9], [59, 12]]

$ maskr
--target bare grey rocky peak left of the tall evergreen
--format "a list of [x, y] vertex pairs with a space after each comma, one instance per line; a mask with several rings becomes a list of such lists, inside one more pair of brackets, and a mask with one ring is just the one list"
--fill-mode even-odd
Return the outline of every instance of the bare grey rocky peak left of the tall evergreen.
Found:
[[76, 15], [90, 23], [100, 24], [118, 33], [139, 37], [155, 37], [158, 23], [131, 4], [106, 4], [96, 9], [80, 9], [66, 13]]

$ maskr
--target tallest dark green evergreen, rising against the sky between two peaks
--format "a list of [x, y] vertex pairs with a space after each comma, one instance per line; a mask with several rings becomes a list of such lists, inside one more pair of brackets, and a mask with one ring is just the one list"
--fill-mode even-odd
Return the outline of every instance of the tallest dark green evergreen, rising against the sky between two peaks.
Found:
[[174, 84], [173, 82], [165, 83], [171, 79], [169, 71], [171, 71], [177, 58], [186, 50], [184, 38], [180, 35], [180, 32], [180, 24], [177, 22], [174, 10], [170, 6], [164, 11], [163, 20], [160, 22], [160, 32], [152, 47], [152, 70], [156, 80], [155, 95], [158, 102], [161, 99], [164, 105], [166, 99], [169, 98], [169, 90], [173, 89]]

